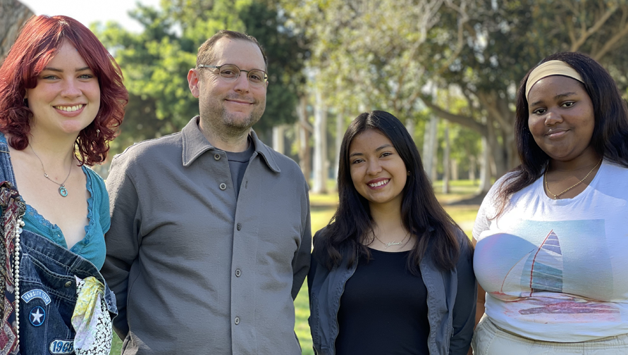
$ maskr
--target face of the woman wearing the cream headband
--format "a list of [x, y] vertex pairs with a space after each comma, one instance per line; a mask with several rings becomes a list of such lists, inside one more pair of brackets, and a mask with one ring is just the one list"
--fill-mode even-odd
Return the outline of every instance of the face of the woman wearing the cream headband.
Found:
[[529, 130], [551, 159], [595, 155], [593, 103], [580, 82], [561, 75], [544, 77], [530, 90], [528, 103]]

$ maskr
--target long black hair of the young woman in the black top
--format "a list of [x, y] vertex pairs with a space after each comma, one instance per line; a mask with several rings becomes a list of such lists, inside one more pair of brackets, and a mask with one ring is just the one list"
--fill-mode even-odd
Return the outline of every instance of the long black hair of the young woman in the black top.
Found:
[[338, 166], [338, 210], [314, 238], [314, 257], [330, 270], [339, 266], [343, 258], [348, 258], [348, 265], [352, 266], [360, 255], [370, 257], [362, 242], [373, 238], [373, 221], [367, 199], [357, 192], [351, 180], [349, 158], [351, 142], [367, 130], [377, 130], [388, 137], [410, 173], [402, 191], [401, 216], [405, 228], [417, 236], [417, 242], [410, 251], [408, 270], [419, 273], [419, 261], [430, 243], [436, 266], [443, 270], [454, 268], [460, 254], [458, 227], [436, 200], [412, 137], [400, 120], [384, 111], [360, 114], [345, 132]]

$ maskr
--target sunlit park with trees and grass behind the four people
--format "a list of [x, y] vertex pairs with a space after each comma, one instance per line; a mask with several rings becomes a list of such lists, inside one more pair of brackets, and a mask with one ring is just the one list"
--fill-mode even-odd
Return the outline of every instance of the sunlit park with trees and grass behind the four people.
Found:
[[[108, 162], [94, 167], [103, 178], [113, 154], [197, 115], [186, 75], [205, 39], [221, 29], [257, 37], [270, 84], [254, 130], [309, 179], [312, 234], [333, 216], [340, 139], [363, 111], [405, 123], [470, 237], [491, 183], [519, 163], [515, 94], [530, 68], [581, 51], [628, 97], [628, 0], [0, 0], [0, 61], [34, 13], [82, 21], [123, 70], [130, 99]], [[307, 287], [295, 310], [313, 354]], [[120, 347], [114, 336], [111, 354]]]

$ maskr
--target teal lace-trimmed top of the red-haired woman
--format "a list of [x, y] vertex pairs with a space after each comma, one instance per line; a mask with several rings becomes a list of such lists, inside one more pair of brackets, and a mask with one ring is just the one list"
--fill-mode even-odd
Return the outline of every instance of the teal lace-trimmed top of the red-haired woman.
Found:
[[[6, 143], [6, 137], [1, 132], [0, 141]], [[100, 270], [106, 256], [104, 234], [109, 230], [111, 224], [109, 194], [107, 194], [104, 181], [94, 170], [86, 166], [82, 166], [82, 170], [87, 178], [87, 191], [90, 192], [90, 198], [87, 199], [87, 219], [89, 222], [85, 226], [85, 237], [74, 244], [70, 251], [91, 261]], [[18, 191], [19, 188], [18, 185]], [[28, 201], [25, 202], [24, 229], [47, 237], [61, 247], [67, 248], [68, 244], [61, 228], [40, 215], [35, 208], [28, 204]]]

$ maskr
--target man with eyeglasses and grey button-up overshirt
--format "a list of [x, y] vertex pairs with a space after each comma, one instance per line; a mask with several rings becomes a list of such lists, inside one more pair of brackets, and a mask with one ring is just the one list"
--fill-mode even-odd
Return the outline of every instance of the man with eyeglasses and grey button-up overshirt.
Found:
[[252, 125], [266, 56], [220, 31], [187, 73], [199, 116], [113, 158], [102, 273], [123, 354], [301, 354], [297, 296], [309, 270], [307, 183]]

